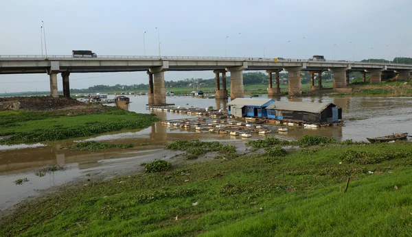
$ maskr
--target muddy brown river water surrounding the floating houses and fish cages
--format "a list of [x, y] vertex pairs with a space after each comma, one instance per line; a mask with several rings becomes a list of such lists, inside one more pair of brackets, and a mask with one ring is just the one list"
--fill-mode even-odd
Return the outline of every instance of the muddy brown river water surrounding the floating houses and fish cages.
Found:
[[[265, 98], [265, 97], [261, 97]], [[109, 97], [109, 99], [111, 99]], [[366, 137], [382, 136], [393, 132], [412, 132], [412, 97], [301, 97], [281, 101], [333, 102], [343, 108], [345, 125], [321, 129], [290, 128], [288, 132], [276, 134], [280, 138], [297, 139], [304, 134], [334, 137], [338, 140], [366, 140]], [[147, 96], [131, 96], [129, 110], [150, 113], [146, 110]], [[214, 108], [227, 110], [226, 101], [200, 99], [192, 97], [168, 97], [168, 103], [185, 108]], [[155, 111], [161, 120], [190, 118], [187, 114]], [[356, 118], [356, 120], [349, 120]], [[363, 118], [363, 119], [358, 119]], [[253, 138], [264, 138], [255, 135]], [[110, 149], [99, 152], [73, 152], [66, 149], [73, 140], [42, 145], [0, 146], [0, 210], [10, 207], [28, 196], [37, 195], [41, 190], [65, 184], [77, 177], [93, 179], [97, 175], [113, 177], [118, 174], [141, 170], [139, 164], [154, 159], [170, 159], [175, 153], [165, 151], [162, 146], [173, 140], [220, 140], [222, 142], [242, 144], [251, 138], [240, 138], [193, 130], [176, 129], [155, 123], [147, 129], [126, 133], [110, 133], [82, 140], [102, 142], [133, 143], [133, 149]], [[148, 145], [142, 145], [148, 144]], [[34, 173], [47, 165], [66, 164], [65, 171], [47, 173], [38, 177]], [[27, 177], [29, 182], [14, 184], [16, 179]]]

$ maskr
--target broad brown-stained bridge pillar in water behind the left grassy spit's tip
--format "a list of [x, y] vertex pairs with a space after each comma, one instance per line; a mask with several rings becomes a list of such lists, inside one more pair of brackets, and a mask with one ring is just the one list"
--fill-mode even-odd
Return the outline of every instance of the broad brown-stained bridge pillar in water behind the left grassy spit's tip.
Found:
[[169, 61], [163, 61], [163, 66], [150, 68], [150, 73], [153, 74], [153, 105], [165, 105], [165, 71], [169, 68]]

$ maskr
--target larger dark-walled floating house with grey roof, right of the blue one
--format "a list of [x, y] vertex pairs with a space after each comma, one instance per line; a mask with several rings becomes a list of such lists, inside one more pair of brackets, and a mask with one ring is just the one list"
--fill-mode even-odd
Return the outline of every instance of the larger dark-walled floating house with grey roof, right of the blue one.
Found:
[[268, 118], [304, 123], [336, 123], [342, 119], [342, 108], [334, 103], [275, 101], [266, 110]]

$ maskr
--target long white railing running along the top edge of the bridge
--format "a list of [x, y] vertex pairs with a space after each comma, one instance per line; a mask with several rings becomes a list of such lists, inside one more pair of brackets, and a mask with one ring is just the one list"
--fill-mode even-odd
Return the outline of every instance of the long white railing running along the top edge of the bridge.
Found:
[[[242, 62], [273, 62], [275, 58], [242, 58], [242, 57], [203, 57], [203, 56], [161, 56], [154, 55], [142, 56], [142, 55], [98, 55], [97, 58], [73, 58], [72, 55], [0, 55], [0, 60], [5, 59], [71, 59], [71, 60], [100, 60], [100, 59], [132, 59], [132, 60], [219, 60], [219, 61], [242, 61]], [[411, 64], [397, 64], [395, 62], [358, 62], [350, 60], [325, 60], [316, 61], [311, 59], [299, 59], [299, 58], [277, 58], [277, 62], [310, 62], [310, 63], [338, 63], [338, 64], [374, 64], [374, 65], [411, 65]]]

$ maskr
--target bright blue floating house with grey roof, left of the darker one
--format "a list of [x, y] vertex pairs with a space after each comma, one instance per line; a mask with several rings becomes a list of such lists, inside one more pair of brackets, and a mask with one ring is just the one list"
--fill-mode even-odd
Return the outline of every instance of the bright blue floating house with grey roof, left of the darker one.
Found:
[[275, 100], [273, 99], [247, 99], [236, 98], [230, 101], [228, 113], [237, 117], [266, 117], [266, 108]]

